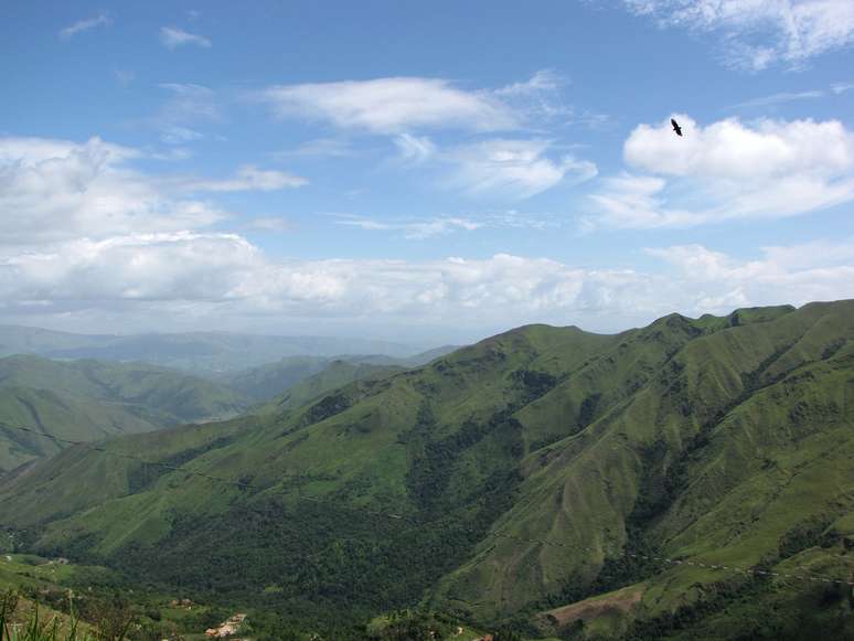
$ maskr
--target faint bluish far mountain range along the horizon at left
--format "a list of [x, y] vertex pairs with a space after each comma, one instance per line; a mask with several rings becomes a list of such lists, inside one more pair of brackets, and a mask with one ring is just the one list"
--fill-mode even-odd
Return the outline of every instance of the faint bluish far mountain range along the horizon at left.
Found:
[[227, 372], [286, 356], [382, 354], [406, 357], [418, 350], [391, 341], [325, 336], [270, 336], [227, 332], [89, 335], [20, 325], [0, 325], [0, 356], [145, 361], [194, 373]]

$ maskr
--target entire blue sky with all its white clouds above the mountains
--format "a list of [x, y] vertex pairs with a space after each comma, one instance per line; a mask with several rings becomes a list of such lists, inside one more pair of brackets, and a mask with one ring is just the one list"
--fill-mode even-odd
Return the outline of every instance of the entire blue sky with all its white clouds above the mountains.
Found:
[[852, 44], [850, 0], [4, 3], [0, 322], [431, 343], [854, 297]]

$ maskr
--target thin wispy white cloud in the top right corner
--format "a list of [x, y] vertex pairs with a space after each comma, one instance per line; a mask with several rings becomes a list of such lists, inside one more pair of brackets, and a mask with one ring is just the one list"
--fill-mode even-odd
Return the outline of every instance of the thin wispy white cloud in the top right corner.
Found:
[[662, 25], [719, 31], [727, 58], [762, 70], [807, 60], [854, 42], [851, 0], [623, 0]]

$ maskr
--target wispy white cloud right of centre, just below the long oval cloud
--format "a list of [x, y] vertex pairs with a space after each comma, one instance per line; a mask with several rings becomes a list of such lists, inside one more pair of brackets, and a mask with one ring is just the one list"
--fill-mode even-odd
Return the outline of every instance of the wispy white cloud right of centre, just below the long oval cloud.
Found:
[[595, 178], [596, 165], [572, 156], [547, 156], [547, 140], [492, 139], [447, 151], [442, 159], [453, 164], [449, 186], [469, 195], [525, 199], [564, 180], [574, 183]]

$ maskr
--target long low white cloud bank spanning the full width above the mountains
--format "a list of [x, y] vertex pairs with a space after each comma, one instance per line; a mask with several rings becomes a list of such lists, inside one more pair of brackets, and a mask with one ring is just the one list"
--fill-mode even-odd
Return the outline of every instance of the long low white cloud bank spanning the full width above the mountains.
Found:
[[617, 330], [674, 310], [700, 316], [854, 297], [851, 241], [771, 247], [750, 259], [700, 245], [648, 253], [669, 267], [588, 269], [509, 254], [271, 260], [236, 234], [192, 232], [70, 239], [38, 250], [7, 245], [0, 246], [0, 314], [38, 311], [52, 325], [68, 314], [122, 319], [125, 327], [145, 319], [149, 330], [188, 318], [268, 331], [338, 319], [348, 328], [482, 334], [527, 322]]

